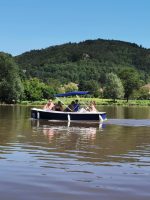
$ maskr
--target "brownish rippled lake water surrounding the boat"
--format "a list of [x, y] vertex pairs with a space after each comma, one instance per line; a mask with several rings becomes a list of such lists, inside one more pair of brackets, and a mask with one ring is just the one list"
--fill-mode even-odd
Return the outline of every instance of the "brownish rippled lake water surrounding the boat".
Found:
[[150, 107], [100, 107], [103, 124], [0, 106], [1, 200], [149, 200]]

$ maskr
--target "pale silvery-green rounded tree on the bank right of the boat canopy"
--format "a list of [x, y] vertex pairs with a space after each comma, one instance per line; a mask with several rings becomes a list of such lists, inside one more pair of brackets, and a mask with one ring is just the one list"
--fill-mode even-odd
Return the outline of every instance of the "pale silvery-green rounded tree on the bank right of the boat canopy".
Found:
[[120, 78], [114, 74], [109, 73], [107, 76], [107, 82], [104, 90], [104, 96], [114, 100], [120, 99], [124, 96], [124, 88]]

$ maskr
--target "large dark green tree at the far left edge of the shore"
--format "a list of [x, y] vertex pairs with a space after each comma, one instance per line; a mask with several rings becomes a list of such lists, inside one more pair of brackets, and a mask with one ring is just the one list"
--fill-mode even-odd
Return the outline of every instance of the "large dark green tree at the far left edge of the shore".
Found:
[[19, 68], [11, 55], [0, 53], [0, 101], [15, 103], [22, 98]]

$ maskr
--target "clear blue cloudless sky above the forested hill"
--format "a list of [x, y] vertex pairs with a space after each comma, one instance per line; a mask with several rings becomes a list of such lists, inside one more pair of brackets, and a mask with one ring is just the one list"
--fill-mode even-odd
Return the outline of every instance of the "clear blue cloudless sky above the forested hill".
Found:
[[150, 0], [0, 0], [0, 51], [97, 38], [150, 48]]

